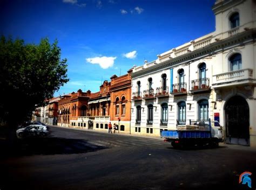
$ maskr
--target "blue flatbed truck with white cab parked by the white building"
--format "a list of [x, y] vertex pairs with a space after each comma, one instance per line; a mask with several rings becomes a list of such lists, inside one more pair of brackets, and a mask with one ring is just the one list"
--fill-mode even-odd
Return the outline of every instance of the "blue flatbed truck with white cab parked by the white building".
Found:
[[173, 148], [189, 146], [218, 147], [223, 142], [223, 130], [218, 121], [191, 121], [189, 125], [177, 126], [177, 130], [162, 130], [161, 138]]

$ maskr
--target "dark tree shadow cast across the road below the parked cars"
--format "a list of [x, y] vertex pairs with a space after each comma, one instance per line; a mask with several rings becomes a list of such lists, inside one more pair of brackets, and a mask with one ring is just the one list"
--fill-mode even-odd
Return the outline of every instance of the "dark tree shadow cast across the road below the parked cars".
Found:
[[0, 158], [53, 155], [53, 154], [78, 154], [107, 149], [86, 142], [84, 139], [68, 139], [58, 137], [26, 138], [18, 140], [11, 146], [5, 140], [0, 139]]

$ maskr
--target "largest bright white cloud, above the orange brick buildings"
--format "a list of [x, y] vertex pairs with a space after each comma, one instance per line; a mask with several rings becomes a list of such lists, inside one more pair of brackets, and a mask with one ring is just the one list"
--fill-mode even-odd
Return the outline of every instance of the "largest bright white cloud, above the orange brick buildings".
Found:
[[86, 61], [90, 64], [99, 64], [103, 69], [107, 69], [114, 65], [114, 60], [117, 57], [95, 57], [95, 58], [87, 58]]

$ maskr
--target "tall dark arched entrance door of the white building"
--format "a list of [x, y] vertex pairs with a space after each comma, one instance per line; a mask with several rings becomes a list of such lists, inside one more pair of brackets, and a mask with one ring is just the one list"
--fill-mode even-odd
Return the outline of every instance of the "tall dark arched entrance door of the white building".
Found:
[[250, 145], [250, 115], [249, 106], [245, 98], [233, 96], [227, 101], [226, 116], [226, 143]]

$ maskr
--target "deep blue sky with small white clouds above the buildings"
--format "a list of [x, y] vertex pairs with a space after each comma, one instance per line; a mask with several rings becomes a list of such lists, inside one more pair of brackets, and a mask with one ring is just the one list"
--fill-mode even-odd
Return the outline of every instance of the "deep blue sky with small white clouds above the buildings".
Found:
[[57, 39], [70, 81], [55, 96], [101, 82], [215, 30], [214, 0], [1, 0], [0, 34]]

